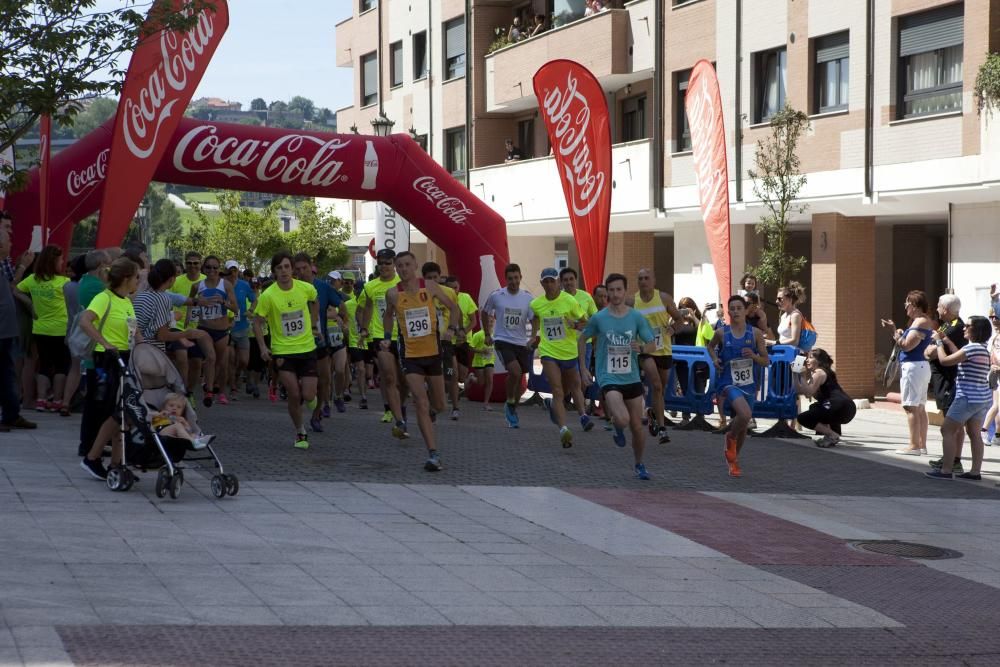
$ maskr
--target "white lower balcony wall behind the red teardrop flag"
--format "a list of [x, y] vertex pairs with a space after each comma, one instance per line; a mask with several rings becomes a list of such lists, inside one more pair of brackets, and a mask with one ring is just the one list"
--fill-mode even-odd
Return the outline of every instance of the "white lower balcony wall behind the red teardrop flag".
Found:
[[[612, 215], [649, 210], [649, 141], [611, 148]], [[551, 156], [472, 169], [469, 190], [508, 225], [532, 223], [529, 233], [538, 234], [565, 233], [568, 229], [566, 199]]]

